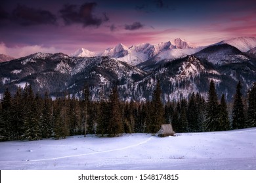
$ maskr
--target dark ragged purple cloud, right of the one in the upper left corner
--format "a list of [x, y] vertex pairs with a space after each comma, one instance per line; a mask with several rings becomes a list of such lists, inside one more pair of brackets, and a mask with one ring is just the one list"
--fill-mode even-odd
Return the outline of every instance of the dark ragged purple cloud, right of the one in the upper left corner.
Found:
[[60, 14], [66, 25], [83, 24], [84, 27], [96, 26], [107, 22], [109, 20], [106, 13], [103, 14], [103, 18], [98, 18], [93, 15], [97, 3], [84, 3], [81, 7], [77, 5], [64, 5], [60, 10]]

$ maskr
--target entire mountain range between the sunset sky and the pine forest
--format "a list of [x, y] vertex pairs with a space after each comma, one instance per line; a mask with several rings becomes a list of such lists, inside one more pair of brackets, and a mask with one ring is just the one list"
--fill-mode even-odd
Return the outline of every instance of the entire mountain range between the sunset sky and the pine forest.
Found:
[[118, 44], [100, 54], [85, 49], [70, 56], [36, 53], [0, 63], [0, 94], [7, 87], [14, 93], [28, 83], [36, 92], [47, 90], [52, 97], [66, 92], [80, 97], [87, 82], [92, 99], [98, 100], [107, 98], [115, 83], [122, 100], [144, 101], [152, 99], [160, 80], [163, 101], [171, 101], [192, 92], [207, 95], [209, 81], [214, 80], [218, 95], [225, 93], [230, 101], [239, 80], [244, 94], [256, 82], [256, 39], [232, 39], [231, 43], [243, 51], [225, 42], [230, 41], [193, 47], [175, 39], [130, 48]]

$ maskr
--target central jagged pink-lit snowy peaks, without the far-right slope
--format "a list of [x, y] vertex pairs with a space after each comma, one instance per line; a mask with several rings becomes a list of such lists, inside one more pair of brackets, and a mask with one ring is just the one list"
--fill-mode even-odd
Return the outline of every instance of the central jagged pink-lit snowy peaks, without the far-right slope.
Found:
[[79, 57], [93, 57], [93, 56], [109, 56], [110, 58], [117, 58], [120, 61], [125, 61], [131, 65], [138, 65], [148, 59], [156, 57], [155, 61], [159, 59], [177, 59], [194, 54], [198, 50], [196, 46], [190, 42], [186, 42], [181, 38], [174, 39], [173, 41], [160, 42], [156, 45], [150, 43], [142, 43], [133, 45], [130, 48], [119, 43], [112, 48], [108, 48], [103, 52], [96, 54], [84, 48], [80, 48], [70, 56]]

